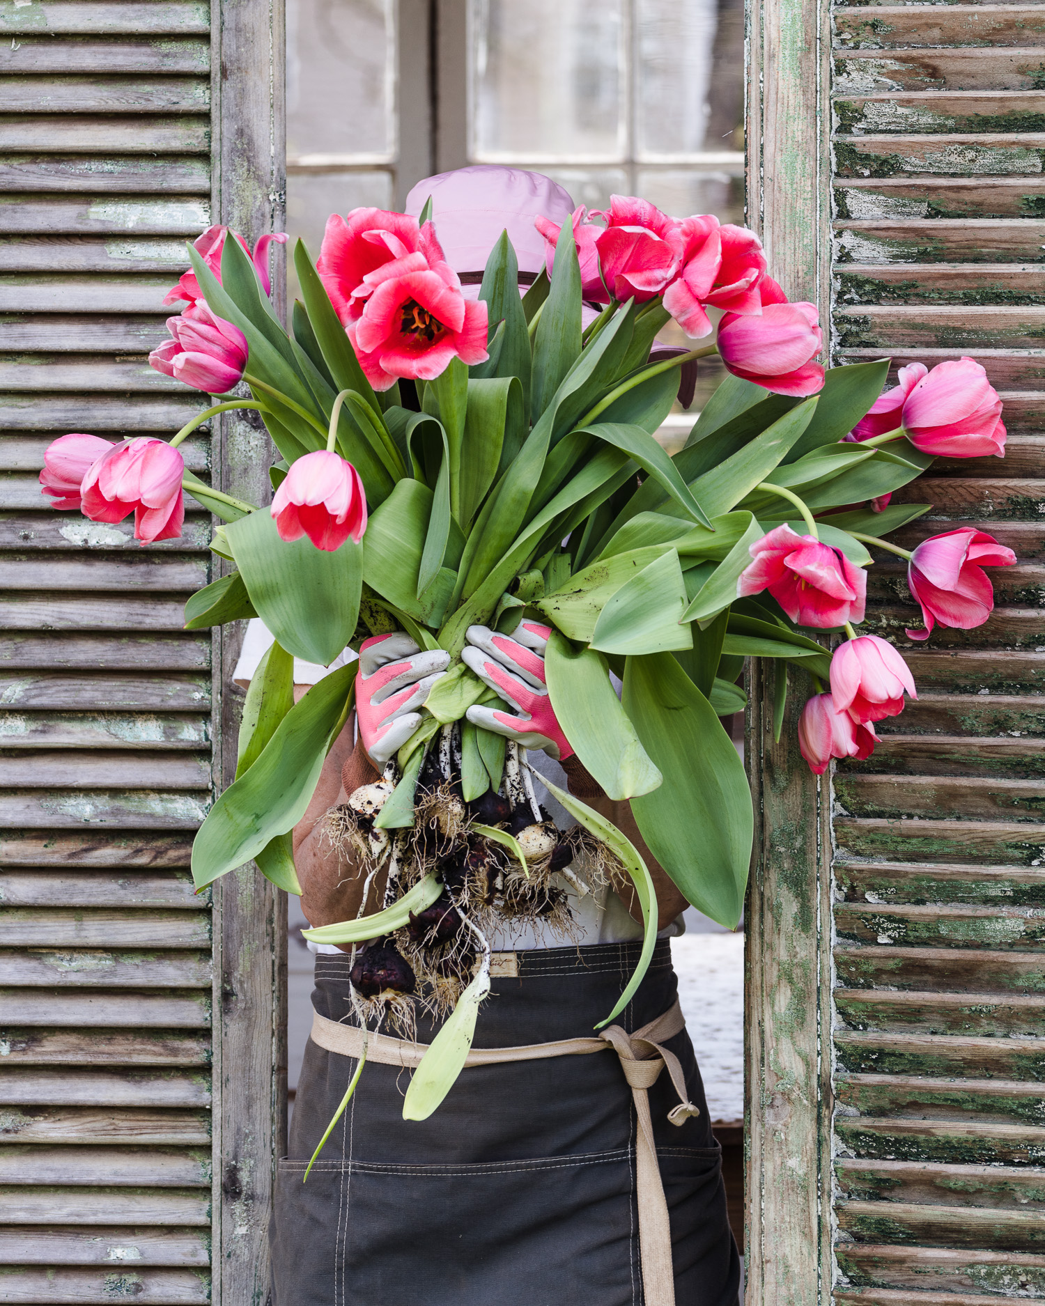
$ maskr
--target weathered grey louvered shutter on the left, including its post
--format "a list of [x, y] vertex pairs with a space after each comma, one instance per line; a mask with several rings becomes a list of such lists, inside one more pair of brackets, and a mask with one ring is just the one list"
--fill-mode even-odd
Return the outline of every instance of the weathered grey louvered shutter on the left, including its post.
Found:
[[[142, 547], [129, 520], [50, 511], [37, 482], [56, 435], [169, 438], [200, 410], [145, 360], [184, 240], [278, 222], [278, 14], [214, 17], [196, 0], [0, 3], [5, 1302], [266, 1290], [277, 904], [249, 878], [212, 904], [188, 874], [234, 724], [234, 632], [182, 631], [217, 575], [210, 522], [189, 508], [182, 539]], [[185, 452], [257, 502], [251, 427]]]

